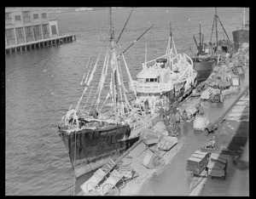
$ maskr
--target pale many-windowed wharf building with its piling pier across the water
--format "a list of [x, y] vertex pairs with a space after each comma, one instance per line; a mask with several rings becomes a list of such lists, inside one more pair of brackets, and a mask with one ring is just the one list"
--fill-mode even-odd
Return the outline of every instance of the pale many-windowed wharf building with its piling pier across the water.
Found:
[[5, 52], [25, 51], [71, 42], [74, 35], [60, 36], [57, 20], [45, 8], [5, 8]]

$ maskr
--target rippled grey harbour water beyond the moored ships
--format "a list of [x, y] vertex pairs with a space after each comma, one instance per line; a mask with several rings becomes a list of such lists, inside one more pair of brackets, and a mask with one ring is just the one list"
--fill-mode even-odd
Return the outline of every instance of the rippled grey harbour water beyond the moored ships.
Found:
[[[130, 12], [113, 10], [116, 37]], [[241, 8], [218, 9], [230, 39], [239, 26], [240, 14]], [[213, 8], [135, 9], [119, 41], [120, 49], [127, 48], [151, 24], [154, 29], [125, 53], [131, 76], [136, 77], [142, 69], [146, 38], [148, 60], [165, 53], [170, 18], [177, 51], [189, 54], [189, 46], [195, 49], [192, 35], [199, 31], [200, 21], [205, 41], [210, 40], [213, 15]], [[73, 195], [73, 169], [57, 124], [70, 105], [77, 105], [87, 60], [91, 54], [97, 56], [108, 37], [108, 18], [106, 10], [100, 10], [62, 13], [57, 20], [60, 33], [75, 34], [76, 42], [5, 58], [6, 195]], [[219, 37], [223, 35], [219, 33]], [[89, 175], [77, 179], [76, 192]]]

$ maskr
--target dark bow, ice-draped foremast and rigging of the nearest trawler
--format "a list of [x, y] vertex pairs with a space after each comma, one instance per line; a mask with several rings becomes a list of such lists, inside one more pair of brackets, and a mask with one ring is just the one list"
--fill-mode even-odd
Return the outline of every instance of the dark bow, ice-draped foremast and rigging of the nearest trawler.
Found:
[[[84, 82], [85, 87], [78, 104], [74, 109], [71, 108], [72, 105], [69, 107], [58, 125], [58, 134], [66, 146], [75, 177], [102, 167], [109, 157], [115, 161], [139, 139], [143, 129], [150, 128], [159, 120], [158, 113], [146, 114], [131, 106], [131, 99], [128, 99], [121, 72], [122, 58], [130, 80], [131, 74], [125, 62], [124, 52], [119, 55], [117, 53], [117, 44], [125, 27], [119, 38], [115, 40], [111, 8], [108, 9], [108, 19], [109, 37], [106, 39], [108, 44], [102, 60], [102, 72], [99, 71], [101, 68], [99, 69], [98, 66], [101, 50], [95, 65], [92, 66], [91, 71], [88, 71], [85, 80], [84, 76], [81, 81], [81, 84]], [[98, 77], [98, 74], [101, 74], [101, 77]], [[98, 82], [96, 92], [91, 92], [92, 87], [95, 86], [92, 83], [93, 79]], [[94, 93], [93, 100], [89, 96], [91, 93]], [[86, 100], [85, 96], [87, 96]], [[88, 101], [91, 102], [90, 105]]]

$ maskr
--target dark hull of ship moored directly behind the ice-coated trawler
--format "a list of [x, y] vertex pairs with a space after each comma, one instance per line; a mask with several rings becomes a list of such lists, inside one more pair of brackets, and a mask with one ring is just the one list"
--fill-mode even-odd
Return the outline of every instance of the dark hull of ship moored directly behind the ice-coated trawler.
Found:
[[202, 62], [194, 62], [194, 69], [197, 71], [197, 82], [202, 82], [207, 80], [207, 78], [211, 75], [213, 70], [213, 60], [202, 61]]

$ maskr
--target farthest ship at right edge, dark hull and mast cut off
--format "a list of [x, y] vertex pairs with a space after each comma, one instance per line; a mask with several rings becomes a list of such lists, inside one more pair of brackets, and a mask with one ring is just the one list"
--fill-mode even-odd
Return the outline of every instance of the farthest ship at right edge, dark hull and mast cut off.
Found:
[[237, 50], [242, 43], [249, 43], [249, 21], [247, 21], [247, 23], [245, 22], [245, 15], [246, 15], [245, 8], [242, 10], [241, 14], [243, 14], [241, 29], [232, 31], [235, 50]]

